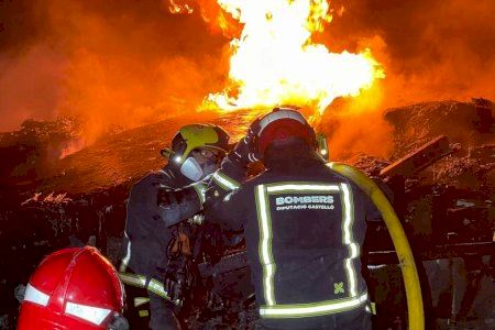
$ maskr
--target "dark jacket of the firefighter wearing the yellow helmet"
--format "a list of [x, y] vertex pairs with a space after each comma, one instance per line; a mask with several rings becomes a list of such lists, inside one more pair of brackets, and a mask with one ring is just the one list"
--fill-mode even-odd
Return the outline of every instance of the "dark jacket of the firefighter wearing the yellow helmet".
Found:
[[128, 202], [120, 277], [124, 284], [146, 288], [164, 299], [168, 299], [163, 280], [167, 244], [173, 238], [170, 227], [202, 209], [206, 184], [179, 190], [184, 184], [165, 167], [136, 183]]

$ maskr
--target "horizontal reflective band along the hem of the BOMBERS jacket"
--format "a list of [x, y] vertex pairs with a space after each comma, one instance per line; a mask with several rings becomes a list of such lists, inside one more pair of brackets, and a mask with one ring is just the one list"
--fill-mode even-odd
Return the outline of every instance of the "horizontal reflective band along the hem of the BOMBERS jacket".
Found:
[[321, 315], [330, 315], [351, 310], [360, 307], [367, 300], [367, 294], [359, 297], [336, 299], [314, 304], [276, 305], [274, 307], [260, 307], [260, 316], [263, 318], [304, 318]]

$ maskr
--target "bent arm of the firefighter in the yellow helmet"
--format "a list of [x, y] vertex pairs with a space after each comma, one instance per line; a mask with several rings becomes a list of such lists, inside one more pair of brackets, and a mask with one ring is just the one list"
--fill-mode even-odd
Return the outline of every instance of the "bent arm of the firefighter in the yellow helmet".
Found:
[[189, 219], [202, 210], [205, 202], [205, 182], [195, 183], [180, 189], [163, 187], [158, 189], [157, 207], [167, 227]]

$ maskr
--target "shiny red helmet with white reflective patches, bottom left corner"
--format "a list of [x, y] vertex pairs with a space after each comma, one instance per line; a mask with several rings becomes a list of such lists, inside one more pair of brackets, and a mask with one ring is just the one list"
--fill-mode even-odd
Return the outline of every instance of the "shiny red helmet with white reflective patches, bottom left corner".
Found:
[[31, 276], [18, 329], [106, 329], [123, 306], [118, 273], [97, 249], [64, 249]]

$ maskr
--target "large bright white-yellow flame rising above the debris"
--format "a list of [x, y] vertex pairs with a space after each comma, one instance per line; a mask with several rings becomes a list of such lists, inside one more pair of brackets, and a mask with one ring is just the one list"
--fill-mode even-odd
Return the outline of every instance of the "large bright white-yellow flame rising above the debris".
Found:
[[369, 50], [336, 54], [311, 41], [332, 19], [327, 0], [217, 0], [243, 24], [231, 41], [229, 86], [204, 108], [266, 109], [293, 105], [322, 113], [338, 97], [356, 96], [384, 73]]

